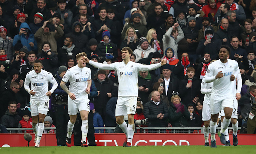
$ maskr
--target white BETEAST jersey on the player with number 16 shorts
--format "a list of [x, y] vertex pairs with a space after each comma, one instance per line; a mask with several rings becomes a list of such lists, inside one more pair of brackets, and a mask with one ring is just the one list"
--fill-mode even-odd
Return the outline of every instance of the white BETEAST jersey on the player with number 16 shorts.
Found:
[[35, 70], [31, 70], [29, 71], [29, 73], [26, 74], [24, 88], [28, 93], [30, 91], [29, 82], [31, 83], [31, 90], [35, 92], [34, 96], [30, 95], [30, 100], [36, 101], [49, 99], [49, 97], [46, 96], [46, 93], [48, 92], [49, 82], [52, 83], [52, 88], [51, 90], [49, 90], [51, 93], [53, 93], [58, 86], [58, 83], [53, 75], [46, 70], [41, 70], [40, 73], [36, 73]]

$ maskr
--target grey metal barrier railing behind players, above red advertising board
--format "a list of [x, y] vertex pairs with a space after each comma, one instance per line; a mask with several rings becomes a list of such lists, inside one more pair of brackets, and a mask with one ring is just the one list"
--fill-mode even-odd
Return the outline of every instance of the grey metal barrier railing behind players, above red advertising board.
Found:
[[[46, 130], [49, 129], [56, 129], [55, 127], [48, 127], [44, 128]], [[99, 133], [115, 133], [115, 127], [94, 127], [94, 129], [99, 130]], [[104, 130], [104, 132], [101, 132], [101, 129]], [[203, 133], [203, 127], [136, 127], [135, 133], [185, 133], [185, 134], [192, 134], [192, 133]], [[218, 132], [221, 129], [221, 127], [217, 127], [216, 132]], [[232, 127], [228, 127], [229, 130], [232, 130]], [[238, 127], [238, 130], [240, 130], [241, 127]], [[7, 131], [9, 133], [25, 133], [26, 130], [33, 130], [32, 128], [7, 128]]]

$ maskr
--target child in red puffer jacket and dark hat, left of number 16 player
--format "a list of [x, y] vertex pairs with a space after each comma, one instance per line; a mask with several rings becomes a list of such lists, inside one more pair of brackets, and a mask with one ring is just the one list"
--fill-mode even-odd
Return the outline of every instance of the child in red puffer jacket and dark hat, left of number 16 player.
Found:
[[[21, 128], [32, 128], [32, 118], [29, 110], [22, 111], [22, 120], [19, 122]], [[25, 133], [25, 131], [22, 131]], [[26, 130], [26, 133], [33, 133], [33, 130]]]

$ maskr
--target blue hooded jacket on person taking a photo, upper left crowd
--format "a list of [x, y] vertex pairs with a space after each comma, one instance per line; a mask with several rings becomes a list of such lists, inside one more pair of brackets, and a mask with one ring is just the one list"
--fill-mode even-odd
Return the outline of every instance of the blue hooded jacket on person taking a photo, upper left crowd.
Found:
[[[29, 27], [29, 25], [27, 23], [21, 23], [21, 26], [20, 26], [20, 29], [21, 28], [28, 28], [29, 29], [29, 37], [28, 39], [26, 39], [26, 36], [24, 34], [17, 34], [14, 36], [14, 39], [13, 39], [13, 46], [15, 46], [15, 44], [18, 42], [18, 41], [21, 41], [21, 44], [23, 46], [26, 46], [28, 48], [28, 51], [31, 51], [33, 50], [34, 52], [37, 53], [37, 42], [35, 41], [35, 38], [34, 38], [34, 35], [32, 34], [32, 31]], [[32, 42], [34, 43], [34, 47], [32, 48], [29, 43]]]

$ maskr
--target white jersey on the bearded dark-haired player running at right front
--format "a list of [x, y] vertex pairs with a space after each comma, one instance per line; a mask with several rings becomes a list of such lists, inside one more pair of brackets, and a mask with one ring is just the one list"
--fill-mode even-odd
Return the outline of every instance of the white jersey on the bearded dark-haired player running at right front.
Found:
[[[222, 71], [222, 78], [215, 78], [219, 71]], [[213, 82], [213, 88], [211, 94], [217, 96], [232, 95], [233, 84], [230, 81], [230, 76], [233, 74], [237, 76], [239, 73], [238, 63], [235, 60], [228, 59], [226, 63], [221, 62], [221, 60], [216, 60], [212, 62], [204, 76], [205, 82]]]

